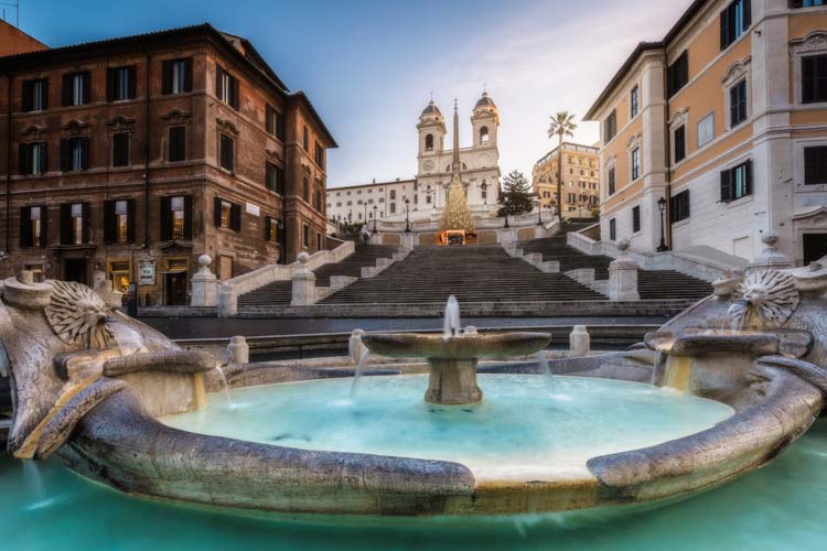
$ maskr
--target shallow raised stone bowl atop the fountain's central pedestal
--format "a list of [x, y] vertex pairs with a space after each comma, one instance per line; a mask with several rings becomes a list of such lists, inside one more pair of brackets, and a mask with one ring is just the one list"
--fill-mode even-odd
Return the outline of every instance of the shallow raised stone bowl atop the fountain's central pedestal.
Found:
[[492, 359], [535, 354], [551, 342], [547, 333], [441, 335], [389, 333], [365, 335], [362, 342], [372, 353], [390, 358]]

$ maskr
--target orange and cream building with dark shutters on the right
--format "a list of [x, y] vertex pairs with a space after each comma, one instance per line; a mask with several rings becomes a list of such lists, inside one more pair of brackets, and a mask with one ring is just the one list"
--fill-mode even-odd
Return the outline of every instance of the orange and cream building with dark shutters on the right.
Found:
[[798, 263], [827, 255], [825, 83], [825, 2], [696, 0], [587, 116], [601, 122], [603, 239], [654, 251], [663, 219], [674, 250], [751, 259], [776, 231]]

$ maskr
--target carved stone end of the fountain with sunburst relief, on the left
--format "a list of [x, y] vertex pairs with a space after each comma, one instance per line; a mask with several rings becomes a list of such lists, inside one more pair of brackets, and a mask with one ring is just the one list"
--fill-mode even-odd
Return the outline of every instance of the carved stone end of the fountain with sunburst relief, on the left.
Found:
[[[147, 410], [203, 406], [203, 374], [212, 356], [182, 350], [167, 337], [110, 307], [86, 285], [34, 282], [31, 272], [0, 283], [0, 365], [14, 400], [9, 450], [47, 457], [97, 404], [121, 391]], [[159, 387], [174, 395], [160, 403]], [[161, 392], [163, 395], [163, 392]]]

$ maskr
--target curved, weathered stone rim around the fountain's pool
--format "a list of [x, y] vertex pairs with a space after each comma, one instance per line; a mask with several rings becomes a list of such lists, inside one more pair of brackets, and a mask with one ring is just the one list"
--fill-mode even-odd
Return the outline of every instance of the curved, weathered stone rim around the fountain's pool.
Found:
[[[624, 355], [579, 358], [555, 372], [642, 381]], [[651, 361], [651, 358], [646, 358]], [[645, 363], [641, 363], [643, 365]], [[651, 364], [649, 364], [651, 365]], [[245, 370], [230, 374], [245, 378]], [[539, 367], [498, 366], [538, 374]], [[494, 371], [496, 372], [496, 371]], [[301, 367], [258, 383], [329, 377]], [[705, 490], [771, 461], [813, 423], [824, 396], [784, 367], [761, 368], [735, 413], [699, 433], [594, 456], [541, 478], [481, 477], [460, 462], [308, 451], [195, 434], [146, 413], [129, 389], [84, 418], [58, 453], [76, 472], [118, 489], [222, 507], [335, 515], [495, 515], [647, 503]]]

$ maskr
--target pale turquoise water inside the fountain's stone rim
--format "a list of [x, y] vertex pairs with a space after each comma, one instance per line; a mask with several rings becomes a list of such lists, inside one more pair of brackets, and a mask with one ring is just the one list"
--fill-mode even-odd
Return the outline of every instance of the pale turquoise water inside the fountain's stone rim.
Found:
[[605, 379], [481, 375], [474, 406], [422, 400], [428, 377], [368, 377], [235, 389], [210, 408], [163, 419], [191, 432], [308, 450], [463, 463], [477, 479], [589, 476], [588, 458], [686, 436], [732, 409]]

